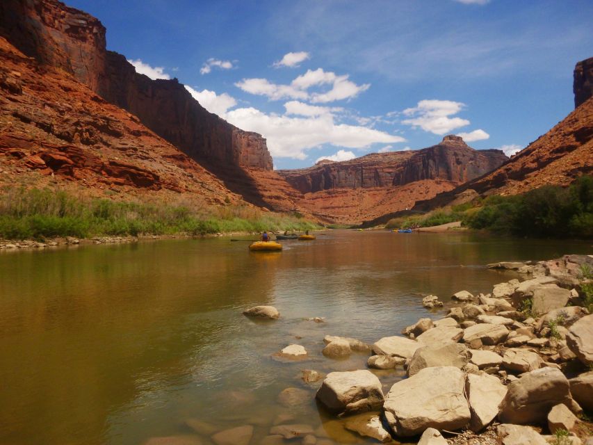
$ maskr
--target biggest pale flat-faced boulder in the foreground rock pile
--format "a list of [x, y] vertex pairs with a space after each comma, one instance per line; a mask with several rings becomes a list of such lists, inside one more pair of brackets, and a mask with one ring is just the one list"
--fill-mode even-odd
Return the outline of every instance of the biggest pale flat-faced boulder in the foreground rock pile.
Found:
[[422, 369], [391, 387], [383, 405], [385, 419], [398, 436], [419, 435], [426, 428], [463, 428], [470, 419], [464, 387], [464, 373], [454, 366]]

